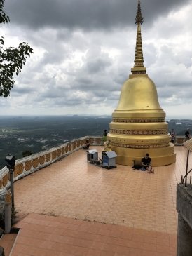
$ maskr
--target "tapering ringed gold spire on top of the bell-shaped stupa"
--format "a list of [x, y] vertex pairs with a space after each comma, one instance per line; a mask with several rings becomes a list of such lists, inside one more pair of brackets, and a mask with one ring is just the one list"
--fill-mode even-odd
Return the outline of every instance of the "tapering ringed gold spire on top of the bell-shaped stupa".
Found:
[[144, 67], [144, 57], [142, 50], [142, 31], [141, 24], [143, 23], [143, 16], [140, 1], [138, 1], [137, 15], [135, 17], [135, 24], [137, 24], [137, 40], [135, 47], [135, 60], [134, 67], [131, 69], [132, 74], [146, 74], [146, 68]]

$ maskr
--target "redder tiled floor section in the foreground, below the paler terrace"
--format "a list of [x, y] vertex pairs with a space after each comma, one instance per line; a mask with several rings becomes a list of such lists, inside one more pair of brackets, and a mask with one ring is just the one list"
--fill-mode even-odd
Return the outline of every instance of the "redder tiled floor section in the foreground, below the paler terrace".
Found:
[[30, 214], [11, 256], [174, 256], [176, 236], [67, 217]]

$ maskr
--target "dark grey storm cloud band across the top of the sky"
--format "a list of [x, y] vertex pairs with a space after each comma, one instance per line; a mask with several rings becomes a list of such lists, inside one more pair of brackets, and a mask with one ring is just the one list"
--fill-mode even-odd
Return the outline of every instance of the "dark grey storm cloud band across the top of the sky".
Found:
[[[190, 0], [142, 0], [145, 22], [177, 8]], [[11, 22], [39, 29], [111, 29], [134, 25], [137, 1], [132, 0], [6, 0]]]

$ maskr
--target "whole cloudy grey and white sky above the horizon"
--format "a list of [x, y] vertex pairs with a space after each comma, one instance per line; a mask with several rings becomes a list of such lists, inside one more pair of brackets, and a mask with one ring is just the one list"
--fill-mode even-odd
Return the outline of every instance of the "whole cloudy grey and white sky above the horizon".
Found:
[[[192, 0], [141, 0], [144, 65], [167, 118], [192, 119]], [[107, 114], [135, 58], [137, 0], [6, 0], [6, 46], [34, 49], [0, 114]]]

